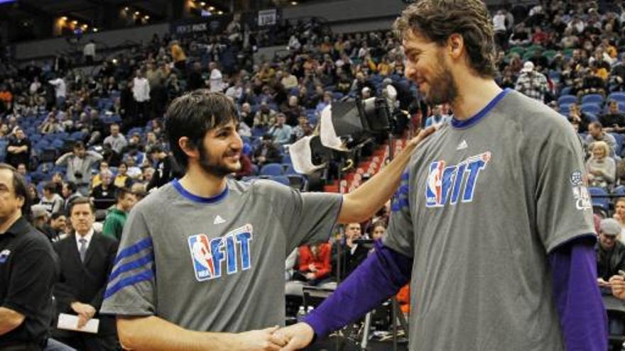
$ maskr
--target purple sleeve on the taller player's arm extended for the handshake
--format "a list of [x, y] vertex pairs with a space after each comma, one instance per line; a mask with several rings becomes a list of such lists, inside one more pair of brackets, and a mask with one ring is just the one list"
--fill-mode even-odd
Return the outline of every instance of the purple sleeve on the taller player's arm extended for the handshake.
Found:
[[[356, 321], [397, 293], [411, 278], [413, 259], [375, 243], [375, 251], [337, 290], [304, 318], [322, 338]], [[362, 291], [367, 291], [362, 294]]]

